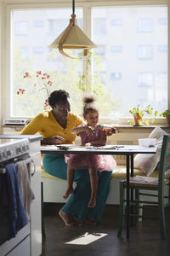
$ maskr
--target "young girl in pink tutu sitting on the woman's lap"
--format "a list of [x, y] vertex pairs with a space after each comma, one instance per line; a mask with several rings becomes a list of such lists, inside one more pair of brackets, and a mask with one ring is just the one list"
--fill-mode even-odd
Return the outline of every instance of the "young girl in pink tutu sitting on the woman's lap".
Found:
[[[94, 130], [99, 121], [99, 112], [94, 105], [94, 96], [83, 98], [83, 118], [87, 121], [86, 125], [79, 125], [71, 130], [72, 133], [77, 133], [81, 137], [82, 146], [103, 146], [106, 143], [105, 131]], [[91, 197], [88, 202], [88, 207], [95, 207], [97, 189], [98, 189], [98, 171], [105, 170], [112, 171], [116, 167], [116, 161], [111, 155], [106, 154], [65, 154], [65, 162], [67, 166], [67, 189], [65, 191], [64, 199], [67, 199], [73, 193], [73, 179], [75, 169], [88, 168], [90, 183], [91, 183]]]

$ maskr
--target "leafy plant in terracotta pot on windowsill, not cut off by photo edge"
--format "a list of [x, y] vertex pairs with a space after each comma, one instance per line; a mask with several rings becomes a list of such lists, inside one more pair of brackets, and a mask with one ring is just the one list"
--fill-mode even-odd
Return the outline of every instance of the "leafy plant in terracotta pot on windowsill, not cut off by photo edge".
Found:
[[[147, 105], [145, 108], [141, 108], [140, 104], [138, 104], [137, 108], [129, 109], [129, 113], [133, 114], [134, 125], [141, 126], [141, 125], [144, 125], [143, 121], [142, 121], [144, 113], [147, 113], [149, 115], [152, 114], [153, 108], [151, 108], [150, 105]], [[158, 114], [158, 112], [155, 111], [154, 115], [156, 116], [157, 114]], [[153, 122], [154, 122], [154, 119], [152, 119], [152, 123]], [[144, 123], [145, 123], [145, 125], [150, 125], [150, 122], [148, 119], [146, 119]], [[132, 125], [132, 123], [130, 123], [130, 122], [129, 122], [129, 124]]]

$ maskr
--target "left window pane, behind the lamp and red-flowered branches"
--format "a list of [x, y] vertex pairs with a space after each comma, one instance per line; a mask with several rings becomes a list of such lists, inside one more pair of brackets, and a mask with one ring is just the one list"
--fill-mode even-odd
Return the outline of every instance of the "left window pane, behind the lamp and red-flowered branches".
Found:
[[[50, 75], [52, 86], [48, 90], [68, 90], [71, 95], [72, 110], [80, 113], [82, 90], [78, 89], [78, 76], [82, 75], [82, 61], [65, 58], [58, 49], [49, 49], [59, 33], [68, 26], [71, 9], [20, 9], [12, 10], [12, 74], [10, 116], [32, 117], [43, 110], [48, 98], [46, 75]], [[37, 20], [32, 21], [32, 17]], [[82, 9], [77, 9], [78, 21], [82, 20]], [[23, 22], [23, 19], [25, 22]], [[35, 29], [29, 29], [28, 26]], [[82, 21], [81, 21], [82, 26]], [[20, 38], [20, 35], [25, 37]], [[65, 50], [66, 51], [66, 50]], [[82, 50], [68, 50], [71, 55], [78, 55]], [[41, 75], [37, 72], [41, 71]], [[24, 79], [23, 76], [29, 73]], [[66, 74], [66, 75], [65, 75]], [[46, 82], [47, 81], [47, 82]], [[50, 84], [50, 83], [49, 83]], [[23, 89], [23, 95], [17, 91]]]

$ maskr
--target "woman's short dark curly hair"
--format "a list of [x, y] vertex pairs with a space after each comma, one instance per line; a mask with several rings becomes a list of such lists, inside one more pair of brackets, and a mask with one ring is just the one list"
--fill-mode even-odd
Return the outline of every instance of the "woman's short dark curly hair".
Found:
[[54, 90], [48, 97], [48, 104], [54, 108], [56, 104], [65, 103], [70, 98], [69, 93], [65, 90]]

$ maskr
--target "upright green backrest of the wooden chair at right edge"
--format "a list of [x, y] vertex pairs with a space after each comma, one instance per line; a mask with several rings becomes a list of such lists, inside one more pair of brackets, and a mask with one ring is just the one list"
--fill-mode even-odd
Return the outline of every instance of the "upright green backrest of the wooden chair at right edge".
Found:
[[160, 157], [160, 168], [159, 168], [160, 189], [164, 185], [164, 178], [167, 172], [170, 173], [170, 135], [163, 136], [163, 142], [161, 146], [161, 157]]

